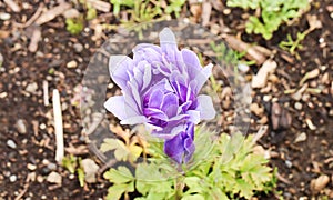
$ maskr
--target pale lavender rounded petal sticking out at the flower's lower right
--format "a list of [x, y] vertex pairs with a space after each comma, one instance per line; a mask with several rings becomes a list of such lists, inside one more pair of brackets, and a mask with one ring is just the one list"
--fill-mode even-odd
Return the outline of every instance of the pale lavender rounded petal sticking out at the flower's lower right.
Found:
[[211, 97], [204, 94], [198, 96], [198, 102], [199, 106], [196, 110], [200, 111], [201, 120], [211, 120], [215, 118], [216, 111]]

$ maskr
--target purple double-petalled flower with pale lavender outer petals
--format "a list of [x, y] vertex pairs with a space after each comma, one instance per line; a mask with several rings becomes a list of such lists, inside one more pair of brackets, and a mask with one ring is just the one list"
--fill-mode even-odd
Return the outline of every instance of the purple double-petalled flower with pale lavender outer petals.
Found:
[[195, 149], [194, 126], [215, 117], [212, 99], [199, 94], [213, 66], [202, 68], [193, 51], [179, 51], [169, 28], [160, 33], [160, 43], [138, 44], [133, 59], [110, 58], [111, 78], [123, 96], [111, 97], [104, 106], [121, 124], [150, 127], [153, 136], [165, 139], [165, 154], [188, 162]]

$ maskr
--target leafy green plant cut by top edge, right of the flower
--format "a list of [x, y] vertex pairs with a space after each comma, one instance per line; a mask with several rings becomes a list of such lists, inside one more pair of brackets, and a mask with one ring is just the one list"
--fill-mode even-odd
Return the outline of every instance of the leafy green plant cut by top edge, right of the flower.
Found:
[[248, 33], [259, 33], [269, 40], [283, 22], [299, 18], [309, 8], [307, 0], [228, 0], [229, 7], [256, 10], [246, 22]]

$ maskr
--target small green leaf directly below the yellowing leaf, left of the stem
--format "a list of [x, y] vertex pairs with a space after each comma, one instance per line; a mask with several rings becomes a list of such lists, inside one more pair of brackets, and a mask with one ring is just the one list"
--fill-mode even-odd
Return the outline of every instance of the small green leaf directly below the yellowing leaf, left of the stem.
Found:
[[123, 166], [118, 167], [118, 170], [110, 169], [103, 174], [103, 177], [113, 183], [125, 183], [134, 179], [131, 171]]

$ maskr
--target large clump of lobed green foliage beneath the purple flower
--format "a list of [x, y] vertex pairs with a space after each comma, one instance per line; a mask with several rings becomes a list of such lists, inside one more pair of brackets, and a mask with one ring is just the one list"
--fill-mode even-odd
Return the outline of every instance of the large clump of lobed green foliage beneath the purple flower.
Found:
[[275, 187], [268, 160], [253, 152], [252, 136], [216, 137], [196, 129], [194, 142], [193, 160], [181, 167], [164, 156], [162, 143], [150, 142], [147, 161], [133, 169], [119, 166], [104, 173], [112, 183], [107, 199], [127, 198], [135, 190], [142, 196], [135, 200], [249, 199], [258, 191], [269, 192]]

